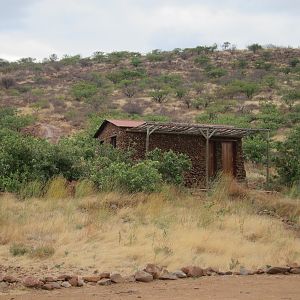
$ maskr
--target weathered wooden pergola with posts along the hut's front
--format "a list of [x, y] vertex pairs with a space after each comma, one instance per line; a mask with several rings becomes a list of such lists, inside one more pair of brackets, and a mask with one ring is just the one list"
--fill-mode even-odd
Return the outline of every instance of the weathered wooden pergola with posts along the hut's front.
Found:
[[129, 132], [146, 133], [146, 153], [149, 151], [150, 135], [156, 133], [183, 134], [183, 135], [201, 135], [206, 140], [206, 189], [209, 189], [209, 141], [212, 137], [220, 138], [243, 138], [256, 132], [265, 132], [267, 140], [267, 166], [266, 166], [266, 184], [269, 185], [269, 159], [270, 159], [270, 129], [264, 128], [237, 128], [224, 125], [202, 125], [192, 123], [159, 123], [145, 122], [142, 125], [127, 129]]

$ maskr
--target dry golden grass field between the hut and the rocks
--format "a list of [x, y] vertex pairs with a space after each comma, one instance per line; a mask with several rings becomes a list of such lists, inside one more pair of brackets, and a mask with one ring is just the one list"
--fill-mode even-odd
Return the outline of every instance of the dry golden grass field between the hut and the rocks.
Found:
[[[55, 195], [60, 194], [25, 201], [1, 196], [1, 261], [125, 273], [147, 262], [170, 269], [197, 264], [223, 270], [300, 262], [295, 233], [278, 219], [255, 214], [265, 201], [286, 213], [293, 208], [294, 215], [298, 209], [299, 220], [299, 201], [259, 198], [230, 179], [221, 180], [208, 196], [170, 187], [151, 195]], [[13, 245], [21, 255], [12, 255]], [[22, 255], [22, 247], [39, 250]]]

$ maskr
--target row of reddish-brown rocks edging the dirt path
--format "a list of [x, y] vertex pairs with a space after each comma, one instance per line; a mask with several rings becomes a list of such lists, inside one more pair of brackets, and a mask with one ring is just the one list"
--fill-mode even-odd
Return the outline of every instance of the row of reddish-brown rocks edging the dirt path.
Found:
[[153, 280], [177, 280], [187, 277], [202, 277], [202, 276], [220, 276], [220, 275], [254, 275], [254, 274], [300, 274], [300, 265], [292, 264], [285, 267], [267, 267], [265, 269], [258, 269], [250, 271], [241, 268], [239, 272], [221, 272], [213, 268], [200, 268], [198, 266], [187, 266], [175, 272], [169, 272], [166, 268], [155, 264], [147, 264], [143, 270], [137, 271], [135, 274], [123, 277], [119, 273], [103, 272], [94, 274], [92, 276], [71, 276], [60, 275], [54, 277], [44, 277], [39, 279], [33, 276], [27, 276], [23, 279], [16, 278], [12, 275], [0, 274], [0, 290], [6, 288], [13, 288], [17, 286], [25, 286], [27, 288], [54, 290], [70, 287], [82, 287], [88, 285], [107, 286], [111, 284], [118, 284], [124, 282], [151, 282]]

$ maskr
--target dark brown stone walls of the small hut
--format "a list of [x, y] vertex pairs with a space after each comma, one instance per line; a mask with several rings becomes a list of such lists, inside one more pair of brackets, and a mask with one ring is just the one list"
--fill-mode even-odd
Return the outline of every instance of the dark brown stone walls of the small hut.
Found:
[[[127, 128], [117, 127], [111, 123], [107, 124], [98, 139], [104, 143], [110, 143], [112, 136], [117, 137], [117, 148], [133, 150], [134, 159], [143, 159], [146, 153], [146, 133], [127, 132]], [[216, 149], [216, 172], [222, 171], [222, 139], [213, 139]], [[188, 186], [205, 187], [206, 176], [206, 142], [199, 135], [158, 134], [152, 133], [149, 138], [149, 151], [155, 148], [163, 151], [173, 150], [177, 153], [187, 154], [192, 161], [191, 170], [185, 174], [185, 182]], [[246, 177], [242, 152], [242, 141], [235, 141], [235, 165], [234, 175], [242, 181]]]

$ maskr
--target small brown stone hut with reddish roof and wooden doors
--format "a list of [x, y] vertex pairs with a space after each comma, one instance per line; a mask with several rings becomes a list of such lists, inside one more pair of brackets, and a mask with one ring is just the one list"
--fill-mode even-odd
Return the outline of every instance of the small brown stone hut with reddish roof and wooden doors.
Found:
[[246, 178], [242, 138], [251, 129], [233, 126], [105, 120], [94, 137], [122, 150], [133, 150], [135, 159], [159, 148], [185, 153], [192, 168], [185, 174], [188, 186], [208, 187], [219, 172], [238, 181]]

